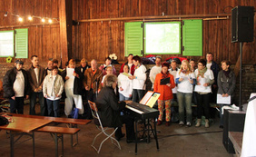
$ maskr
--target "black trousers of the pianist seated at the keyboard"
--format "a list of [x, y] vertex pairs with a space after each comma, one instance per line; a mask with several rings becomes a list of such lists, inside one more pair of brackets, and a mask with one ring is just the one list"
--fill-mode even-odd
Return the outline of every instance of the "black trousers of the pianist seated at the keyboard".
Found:
[[[122, 122], [125, 123], [125, 131], [126, 131], [126, 139], [127, 140], [134, 140], [135, 133], [134, 133], [134, 119], [131, 115], [123, 115]], [[115, 132], [116, 137], [122, 136], [122, 128], [118, 127], [117, 131]]]

